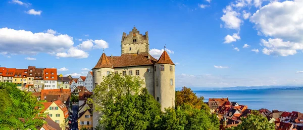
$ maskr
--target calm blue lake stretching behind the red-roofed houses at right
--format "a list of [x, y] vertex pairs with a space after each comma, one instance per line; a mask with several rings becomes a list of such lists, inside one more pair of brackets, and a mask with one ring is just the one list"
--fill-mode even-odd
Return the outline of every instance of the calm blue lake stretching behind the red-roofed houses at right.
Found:
[[194, 91], [197, 96], [209, 98], [226, 98], [229, 101], [247, 105], [249, 109], [267, 108], [280, 111], [303, 112], [303, 90], [226, 90], [226, 91]]

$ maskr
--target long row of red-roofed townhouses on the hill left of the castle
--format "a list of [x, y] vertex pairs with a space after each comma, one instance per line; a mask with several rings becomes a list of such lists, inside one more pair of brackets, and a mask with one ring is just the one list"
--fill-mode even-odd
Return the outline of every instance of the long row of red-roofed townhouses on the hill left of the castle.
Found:
[[92, 72], [87, 76], [72, 78], [71, 76], [57, 75], [56, 68], [36, 68], [28, 66], [27, 69], [16, 69], [0, 67], [0, 82], [11, 82], [17, 84], [20, 90], [40, 92], [42, 89], [71, 89], [85, 86], [92, 92]]

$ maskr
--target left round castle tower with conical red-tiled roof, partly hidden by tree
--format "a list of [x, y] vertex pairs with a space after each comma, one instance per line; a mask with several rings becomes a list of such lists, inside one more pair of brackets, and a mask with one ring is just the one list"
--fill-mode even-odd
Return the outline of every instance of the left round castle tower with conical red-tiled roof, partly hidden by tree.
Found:
[[[106, 54], [103, 52], [95, 67], [92, 68], [93, 89], [96, 87], [96, 85], [99, 85], [101, 82], [103, 82], [103, 76], [107, 76], [110, 72], [114, 72], [114, 67], [107, 58]], [[99, 117], [100, 113], [93, 112], [93, 127], [96, 127], [98, 125]]]

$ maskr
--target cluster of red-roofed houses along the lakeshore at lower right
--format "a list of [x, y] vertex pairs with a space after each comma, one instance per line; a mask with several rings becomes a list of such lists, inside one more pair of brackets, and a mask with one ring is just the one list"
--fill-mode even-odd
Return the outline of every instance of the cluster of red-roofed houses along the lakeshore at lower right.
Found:
[[[246, 105], [237, 102], [230, 102], [228, 98], [209, 98], [207, 102], [211, 112], [218, 115], [220, 119], [220, 129], [237, 126], [241, 118], [245, 118], [252, 112]], [[258, 110], [269, 122], [275, 123], [278, 130], [303, 130], [303, 114], [297, 111], [287, 112], [279, 110], [268, 110], [265, 108]]]

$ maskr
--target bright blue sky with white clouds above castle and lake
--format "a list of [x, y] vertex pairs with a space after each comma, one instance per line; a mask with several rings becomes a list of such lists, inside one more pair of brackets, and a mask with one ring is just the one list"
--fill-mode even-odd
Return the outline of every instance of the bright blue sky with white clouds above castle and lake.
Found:
[[86, 76], [103, 53], [121, 55], [123, 32], [164, 46], [176, 87], [303, 84], [303, 1], [0, 2], [0, 65]]

